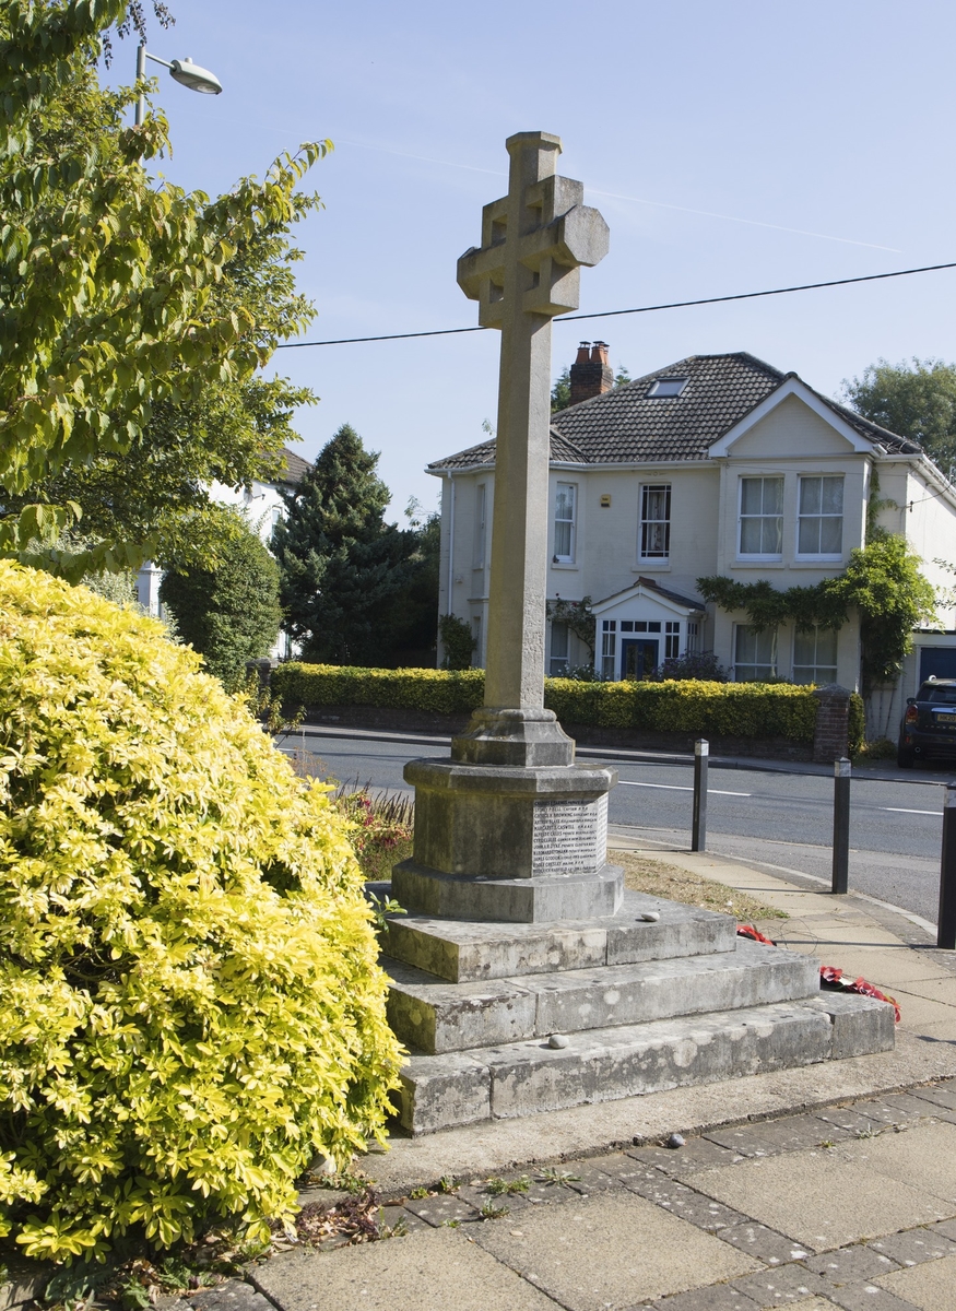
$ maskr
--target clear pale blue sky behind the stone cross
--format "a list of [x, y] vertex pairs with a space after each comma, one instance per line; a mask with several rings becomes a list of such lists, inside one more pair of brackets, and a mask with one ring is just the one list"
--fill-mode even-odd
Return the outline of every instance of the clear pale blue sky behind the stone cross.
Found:
[[[149, 49], [216, 72], [218, 97], [157, 72], [165, 174], [209, 193], [330, 138], [303, 223], [309, 338], [468, 326], [455, 261], [506, 186], [504, 140], [556, 132], [560, 172], [611, 228], [581, 312], [956, 260], [956, 5], [947, 0], [173, 0]], [[129, 64], [129, 69], [126, 66]], [[131, 81], [119, 43], [111, 80]], [[734, 305], [555, 325], [553, 374], [602, 338], [632, 376], [747, 350], [835, 393], [879, 357], [956, 357], [956, 270]], [[392, 517], [437, 503], [424, 465], [494, 422], [497, 333], [285, 350], [311, 385], [313, 456], [350, 422], [382, 452]]]

